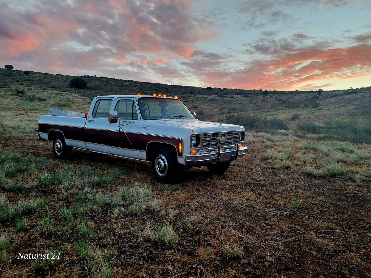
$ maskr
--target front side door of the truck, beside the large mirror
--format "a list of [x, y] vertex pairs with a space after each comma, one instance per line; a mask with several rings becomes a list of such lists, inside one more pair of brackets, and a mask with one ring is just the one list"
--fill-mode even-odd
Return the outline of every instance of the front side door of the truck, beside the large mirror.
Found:
[[118, 99], [113, 110], [117, 111], [118, 122], [109, 123], [107, 144], [111, 155], [138, 158], [135, 140], [138, 132], [138, 110], [131, 98]]

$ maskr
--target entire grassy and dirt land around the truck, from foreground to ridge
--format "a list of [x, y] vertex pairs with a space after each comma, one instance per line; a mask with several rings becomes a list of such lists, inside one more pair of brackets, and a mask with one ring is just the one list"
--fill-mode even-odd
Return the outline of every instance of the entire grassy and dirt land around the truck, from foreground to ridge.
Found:
[[[0, 264], [32, 277], [366, 277], [371, 88], [264, 92], [0, 70]], [[17, 90], [25, 92], [17, 94]], [[158, 183], [150, 163], [36, 141], [49, 108], [104, 94], [180, 96], [247, 129], [247, 155]], [[335, 140], [351, 142], [337, 142]], [[59, 259], [15, 259], [60, 254]], [[6, 276], [5, 275], [5, 276]]]

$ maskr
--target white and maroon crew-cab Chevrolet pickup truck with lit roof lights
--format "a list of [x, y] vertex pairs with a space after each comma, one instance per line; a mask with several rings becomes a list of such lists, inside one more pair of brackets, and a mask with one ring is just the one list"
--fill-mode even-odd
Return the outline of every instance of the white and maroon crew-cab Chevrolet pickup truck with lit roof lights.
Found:
[[193, 166], [223, 173], [247, 152], [243, 126], [197, 120], [177, 96], [98, 96], [85, 115], [59, 115], [40, 115], [36, 129], [57, 158], [76, 148], [152, 162], [159, 181]]

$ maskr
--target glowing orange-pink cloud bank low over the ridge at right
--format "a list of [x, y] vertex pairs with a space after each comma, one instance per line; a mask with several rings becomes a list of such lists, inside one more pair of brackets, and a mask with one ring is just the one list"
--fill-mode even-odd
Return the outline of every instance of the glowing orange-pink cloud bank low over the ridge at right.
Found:
[[[312, 82], [370, 76], [371, 45], [336, 49], [292, 49], [279, 58], [255, 61], [234, 72], [210, 71], [204, 85], [266, 90], [293, 90]], [[306, 62], [306, 63], [303, 63]], [[308, 63], [309, 62], [309, 63]]]

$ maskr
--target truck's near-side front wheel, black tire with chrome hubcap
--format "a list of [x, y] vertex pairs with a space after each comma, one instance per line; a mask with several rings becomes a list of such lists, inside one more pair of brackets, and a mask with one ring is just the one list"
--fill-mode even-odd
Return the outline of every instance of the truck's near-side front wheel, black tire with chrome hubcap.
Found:
[[161, 147], [152, 160], [152, 170], [159, 182], [171, 182], [178, 173], [178, 159], [172, 148]]

